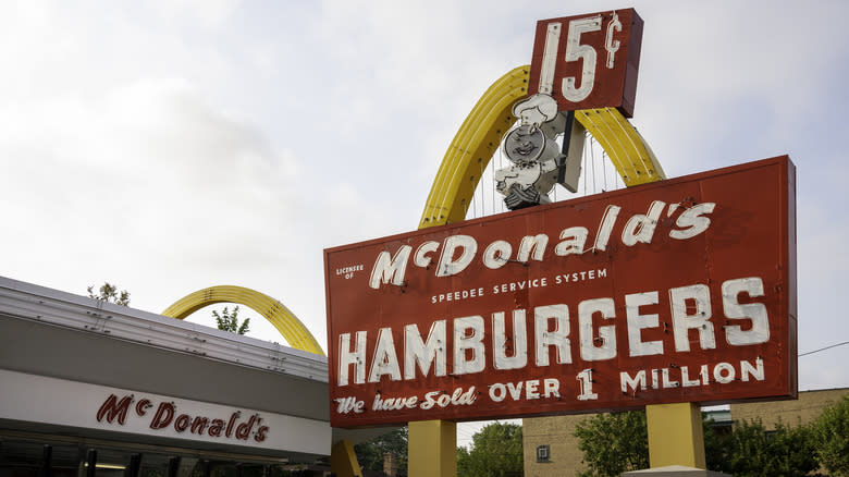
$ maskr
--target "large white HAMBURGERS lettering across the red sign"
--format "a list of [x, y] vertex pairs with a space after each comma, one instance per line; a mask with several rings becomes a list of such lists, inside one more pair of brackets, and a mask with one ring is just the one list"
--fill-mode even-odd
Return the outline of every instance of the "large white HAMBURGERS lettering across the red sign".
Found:
[[[678, 286], [667, 291], [669, 294], [669, 313], [673, 322], [676, 352], [690, 352], [689, 330], [697, 330], [699, 347], [713, 350], [716, 347], [717, 334], [731, 346], [748, 346], [765, 343], [770, 339], [770, 320], [766, 308], [761, 303], [739, 303], [741, 294], [749, 298], [764, 296], [763, 280], [758, 277], [746, 277], [727, 280], [722, 283], [722, 303], [725, 319], [729, 325], [716, 331], [710, 323], [713, 310], [710, 304], [710, 289], [706, 284], [696, 283]], [[666, 352], [661, 341], [644, 342], [641, 332], [644, 329], [657, 328], [660, 319], [656, 314], [643, 315], [642, 306], [659, 303], [659, 292], [650, 291], [631, 293], [622, 297], [600, 297], [585, 299], [578, 303], [578, 355], [583, 362], [614, 359], [620, 347], [616, 343], [617, 303], [624, 304], [625, 327], [628, 335], [628, 356], [662, 355]], [[688, 303], [696, 303], [694, 310], [688, 313]], [[451, 320], [453, 333], [446, 332], [447, 320], [433, 322], [427, 341], [422, 340], [418, 327], [404, 327], [404, 347], [397, 348], [392, 339], [391, 328], [378, 331], [377, 348], [370, 364], [366, 363], [366, 343], [368, 331], [356, 331], [356, 345], [352, 347], [352, 333], [340, 334], [337, 366], [337, 382], [340, 387], [350, 383], [350, 367], [354, 367], [354, 383], [362, 384], [366, 380], [368, 366], [368, 382], [380, 382], [382, 376], [389, 376], [393, 381], [418, 379], [421, 377], [445, 376], [447, 353], [453, 352], [452, 372], [455, 376], [471, 375], [483, 371], [488, 364], [494, 369], [519, 369], [528, 364], [528, 334], [525, 329], [525, 309], [510, 311], [513, 341], [507, 345], [506, 313], [493, 311], [490, 319], [483, 316], [456, 317]], [[593, 317], [600, 316], [604, 325], [593, 325]], [[555, 327], [551, 329], [551, 320]], [[573, 363], [574, 350], [569, 330], [569, 307], [567, 304], [550, 304], [533, 308], [534, 343], [533, 363], [537, 366], [549, 366], [549, 348], [557, 352], [557, 363]], [[483, 337], [489, 332], [494, 337], [494, 350], [487, 350]], [[745, 326], [739, 323], [745, 322]], [[453, 346], [446, 339], [453, 338]], [[576, 338], [573, 335], [573, 338]], [[398, 359], [398, 356], [403, 359]], [[404, 363], [404, 369], [401, 369]], [[718, 380], [718, 379], [717, 379]], [[586, 379], [589, 382], [589, 378]], [[591, 394], [588, 392], [588, 394]]]

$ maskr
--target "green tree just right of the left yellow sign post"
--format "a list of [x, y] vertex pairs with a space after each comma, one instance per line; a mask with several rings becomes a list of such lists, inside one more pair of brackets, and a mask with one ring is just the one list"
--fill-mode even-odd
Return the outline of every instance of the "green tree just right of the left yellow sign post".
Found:
[[460, 477], [521, 476], [524, 472], [521, 426], [493, 423], [471, 437], [471, 449], [457, 448]]

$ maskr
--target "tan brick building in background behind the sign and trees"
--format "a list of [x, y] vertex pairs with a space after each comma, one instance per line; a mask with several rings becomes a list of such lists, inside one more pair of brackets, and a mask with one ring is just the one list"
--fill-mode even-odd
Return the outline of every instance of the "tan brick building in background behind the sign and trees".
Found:
[[[773, 430], [779, 420], [791, 426], [811, 423], [825, 406], [847, 394], [849, 388], [801, 391], [796, 401], [731, 404], [730, 412], [712, 414], [719, 426], [730, 426], [733, 420], [760, 418], [767, 430]], [[590, 416], [578, 414], [522, 419], [525, 476], [570, 477], [586, 470], [575, 427]]]

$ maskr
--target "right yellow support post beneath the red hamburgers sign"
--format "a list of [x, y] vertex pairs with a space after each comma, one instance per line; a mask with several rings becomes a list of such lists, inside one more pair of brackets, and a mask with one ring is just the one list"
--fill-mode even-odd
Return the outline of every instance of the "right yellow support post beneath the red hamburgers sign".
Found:
[[702, 411], [698, 403], [645, 406], [649, 428], [649, 464], [707, 468], [704, 461]]

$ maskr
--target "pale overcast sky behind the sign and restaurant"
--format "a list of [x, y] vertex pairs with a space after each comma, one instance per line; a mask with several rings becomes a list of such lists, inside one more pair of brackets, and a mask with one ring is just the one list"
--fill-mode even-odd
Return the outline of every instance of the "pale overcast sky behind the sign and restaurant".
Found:
[[[417, 227], [537, 20], [623, 7], [645, 22], [632, 123], [667, 175], [790, 155], [799, 350], [849, 341], [844, 1], [4, 1], [0, 274], [156, 313], [247, 286], [323, 344], [322, 249]], [[847, 362], [801, 357], [800, 389], [849, 386]]]

